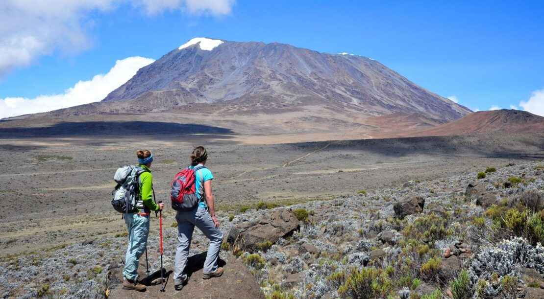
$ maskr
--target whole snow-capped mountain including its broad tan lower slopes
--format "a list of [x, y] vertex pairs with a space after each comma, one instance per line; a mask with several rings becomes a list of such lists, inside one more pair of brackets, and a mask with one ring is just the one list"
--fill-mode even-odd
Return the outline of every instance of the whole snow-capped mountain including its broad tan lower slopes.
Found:
[[403, 135], [470, 113], [371, 58], [195, 38], [138, 70], [101, 102], [0, 122], [0, 138], [189, 131], [215, 132], [214, 138], [228, 132], [230, 140], [252, 143], [362, 139]]

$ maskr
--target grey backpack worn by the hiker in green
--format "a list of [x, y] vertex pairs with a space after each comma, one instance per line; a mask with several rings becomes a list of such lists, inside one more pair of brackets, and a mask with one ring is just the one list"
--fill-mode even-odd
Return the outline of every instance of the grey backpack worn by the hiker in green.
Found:
[[112, 206], [119, 213], [133, 213], [140, 197], [139, 177], [145, 169], [126, 165], [115, 171], [113, 179], [117, 183], [112, 191]]

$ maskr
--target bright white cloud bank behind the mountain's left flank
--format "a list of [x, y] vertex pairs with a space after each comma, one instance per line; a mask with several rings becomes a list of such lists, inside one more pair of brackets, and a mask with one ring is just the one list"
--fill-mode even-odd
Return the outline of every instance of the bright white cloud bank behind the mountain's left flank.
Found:
[[35, 98], [0, 98], [0, 119], [4, 117], [40, 113], [75, 105], [101, 101], [111, 91], [127, 82], [136, 72], [154, 60], [144, 57], [129, 57], [117, 60], [106, 74], [97, 74], [88, 81], [79, 81], [72, 88], [58, 95], [43, 95]]

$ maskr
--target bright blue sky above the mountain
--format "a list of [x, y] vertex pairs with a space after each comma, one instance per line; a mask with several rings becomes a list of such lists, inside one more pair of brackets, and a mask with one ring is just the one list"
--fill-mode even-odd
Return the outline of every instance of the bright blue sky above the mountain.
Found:
[[[22, 11], [21, 20], [28, 19], [24, 14], [44, 14], [32, 11], [33, 7], [14, 9], [9, 7], [11, 1], [0, 4], [0, 25], [6, 22], [1, 21], [2, 15], [14, 11]], [[471, 109], [519, 107], [520, 101], [532, 96], [533, 112], [544, 115], [541, 1], [82, 2], [86, 6], [69, 9], [74, 15], [60, 16], [68, 25], [55, 21], [59, 13], [46, 11], [53, 15], [50, 27], [53, 34], [59, 32], [59, 39], [46, 38], [46, 46], [30, 51], [30, 58], [21, 63], [18, 52], [3, 69], [0, 61], [0, 101], [63, 94], [79, 80], [108, 73], [117, 60], [158, 59], [191, 38], [207, 36], [363, 55], [441, 96], [455, 96]], [[160, 4], [164, 2], [170, 6]], [[0, 37], [0, 55], [10, 45], [11, 35], [32, 35], [35, 27], [48, 26], [47, 22], [36, 17], [35, 24], [31, 22], [20, 35], [12, 24], [7, 38]], [[2, 27], [6, 28], [0, 26], [0, 35], [5, 36]]]

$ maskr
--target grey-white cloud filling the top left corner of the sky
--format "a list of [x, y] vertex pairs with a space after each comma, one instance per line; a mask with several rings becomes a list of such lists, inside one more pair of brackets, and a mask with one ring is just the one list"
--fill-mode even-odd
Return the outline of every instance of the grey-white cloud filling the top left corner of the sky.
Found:
[[121, 4], [149, 15], [180, 9], [190, 14], [230, 14], [234, 0], [1, 0], [0, 77], [56, 50], [78, 52], [91, 44], [86, 27], [91, 14]]

